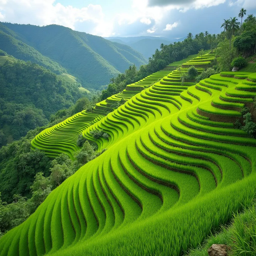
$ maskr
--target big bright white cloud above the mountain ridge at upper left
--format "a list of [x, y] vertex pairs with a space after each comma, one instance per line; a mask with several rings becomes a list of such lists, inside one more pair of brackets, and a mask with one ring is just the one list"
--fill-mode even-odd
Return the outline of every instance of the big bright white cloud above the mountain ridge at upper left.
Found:
[[102, 36], [110, 34], [112, 26], [104, 20], [100, 5], [89, 4], [87, 7], [75, 8], [54, 2], [55, 0], [0, 0], [0, 19], [39, 26], [58, 24], [71, 29], [75, 29], [76, 23], [89, 22], [89, 33]]

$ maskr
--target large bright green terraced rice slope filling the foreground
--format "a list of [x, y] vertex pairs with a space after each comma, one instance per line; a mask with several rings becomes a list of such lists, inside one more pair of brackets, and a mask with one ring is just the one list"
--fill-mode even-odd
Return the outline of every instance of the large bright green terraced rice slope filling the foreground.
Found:
[[94, 125], [108, 150], [9, 231], [0, 255], [180, 255], [251, 202], [256, 140], [232, 124], [255, 96], [248, 74], [194, 86], [175, 74]]

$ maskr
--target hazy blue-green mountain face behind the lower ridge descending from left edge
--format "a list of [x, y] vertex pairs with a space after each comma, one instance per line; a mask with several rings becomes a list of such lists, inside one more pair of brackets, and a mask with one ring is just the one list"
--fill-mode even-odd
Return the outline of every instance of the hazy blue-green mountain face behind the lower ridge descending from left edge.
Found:
[[124, 72], [133, 63], [137, 67], [146, 63], [142, 55], [129, 47], [116, 46], [102, 37], [63, 26], [4, 25], [12, 30], [16, 38], [60, 63], [68, 73], [90, 88], [107, 84], [110, 78]]

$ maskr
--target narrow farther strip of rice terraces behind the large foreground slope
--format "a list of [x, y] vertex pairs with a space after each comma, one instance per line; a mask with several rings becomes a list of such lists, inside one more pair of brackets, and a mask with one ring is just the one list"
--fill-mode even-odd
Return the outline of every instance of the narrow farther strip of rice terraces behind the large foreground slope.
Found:
[[[205, 56], [212, 58], [212, 55], [209, 54], [206, 54]], [[192, 57], [194, 57], [194, 55], [192, 55]], [[179, 63], [185, 63], [187, 60], [193, 59], [192, 57], [188, 57], [187, 59], [184, 59], [183, 62], [180, 61]], [[112, 95], [106, 100], [97, 103], [91, 113], [82, 111], [62, 123], [42, 131], [31, 142], [32, 147], [44, 150], [49, 157], [55, 157], [60, 153], [66, 153], [71, 159], [73, 159], [73, 153], [79, 149], [76, 146], [78, 135], [83, 132], [88, 139], [93, 140], [89, 132], [94, 129], [95, 125], [98, 125], [97, 122], [101, 120], [103, 116], [112, 112], [113, 109], [116, 108], [116, 104], [118, 104], [121, 99], [129, 100], [134, 95], [140, 93], [142, 90], [154, 83], [155, 85], [153, 88], [161, 88], [163, 84], [172, 85], [172, 90], [174, 90], [173, 93], [176, 93], [176, 95], [179, 95], [179, 93], [184, 89], [187, 89], [188, 86], [193, 85], [194, 83], [187, 82], [181, 86], [180, 75], [183, 72], [186, 72], [187, 68], [181, 68], [180, 71], [173, 70], [176, 67], [177, 64], [173, 67], [167, 66], [163, 70], [153, 73], [136, 83], [127, 85], [125, 90], [121, 93]], [[199, 73], [202, 70], [203, 68], [198, 68]], [[160, 79], [162, 80], [159, 82], [158, 80]], [[153, 88], [150, 90], [154, 90]], [[109, 115], [115, 115], [115, 112]], [[114, 119], [116, 120], [116, 117], [114, 117]], [[119, 123], [119, 120], [116, 120], [116, 122]], [[94, 123], [95, 125], [91, 126]], [[100, 144], [100, 142], [97, 143]], [[101, 148], [100, 145], [99, 148]]]

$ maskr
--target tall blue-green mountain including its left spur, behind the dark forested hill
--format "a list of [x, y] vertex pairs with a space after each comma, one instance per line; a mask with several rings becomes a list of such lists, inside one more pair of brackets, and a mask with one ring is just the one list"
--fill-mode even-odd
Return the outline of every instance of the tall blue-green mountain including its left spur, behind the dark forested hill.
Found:
[[[99, 88], [130, 65], [145, 58], [130, 47], [99, 36], [49, 25], [0, 23], [1, 49], [56, 73], [68, 72], [87, 88]], [[100, 74], [100, 75], [99, 75]]]

